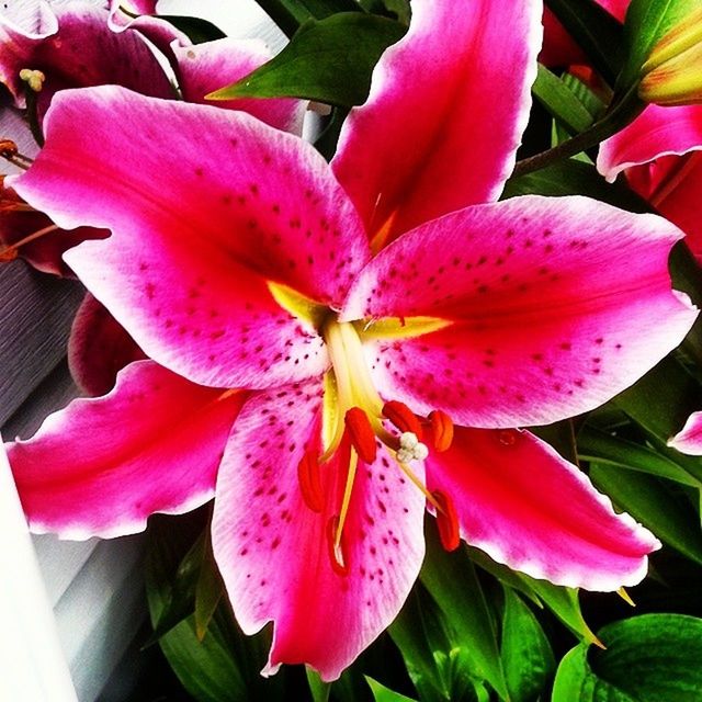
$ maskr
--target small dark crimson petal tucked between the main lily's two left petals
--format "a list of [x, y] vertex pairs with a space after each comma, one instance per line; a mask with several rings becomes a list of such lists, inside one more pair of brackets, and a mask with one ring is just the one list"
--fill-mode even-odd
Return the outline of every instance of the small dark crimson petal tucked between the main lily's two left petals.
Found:
[[68, 367], [78, 387], [93, 397], [105, 395], [123, 367], [145, 358], [115, 318], [87, 293], [68, 340]]

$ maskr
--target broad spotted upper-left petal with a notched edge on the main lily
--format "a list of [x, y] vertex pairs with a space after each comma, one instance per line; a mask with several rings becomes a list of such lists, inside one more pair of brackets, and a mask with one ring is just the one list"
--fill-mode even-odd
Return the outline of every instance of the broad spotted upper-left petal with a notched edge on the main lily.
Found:
[[314, 147], [245, 113], [115, 87], [61, 92], [46, 123], [12, 184], [59, 226], [113, 231], [65, 258], [149, 358], [217, 387], [326, 369], [321, 338], [268, 286], [338, 307], [369, 260]]

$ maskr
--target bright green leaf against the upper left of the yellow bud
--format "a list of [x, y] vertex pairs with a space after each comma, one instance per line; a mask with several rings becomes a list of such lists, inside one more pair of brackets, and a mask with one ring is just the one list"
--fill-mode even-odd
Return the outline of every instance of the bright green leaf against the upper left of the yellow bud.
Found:
[[624, 22], [626, 58], [616, 84], [619, 93], [638, 83], [655, 44], [697, 7], [699, 0], [632, 0]]

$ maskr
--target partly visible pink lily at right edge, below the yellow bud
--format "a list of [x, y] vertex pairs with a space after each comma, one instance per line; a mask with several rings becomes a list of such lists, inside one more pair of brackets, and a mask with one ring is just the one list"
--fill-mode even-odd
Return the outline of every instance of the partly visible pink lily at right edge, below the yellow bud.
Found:
[[702, 261], [702, 105], [649, 105], [600, 147], [598, 170], [629, 184], [688, 236]]

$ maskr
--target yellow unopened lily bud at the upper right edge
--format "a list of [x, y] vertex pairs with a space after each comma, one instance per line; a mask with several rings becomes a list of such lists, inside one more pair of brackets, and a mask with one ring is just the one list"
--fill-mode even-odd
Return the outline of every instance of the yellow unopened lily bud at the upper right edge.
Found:
[[638, 95], [659, 105], [702, 103], [702, 8], [654, 46], [642, 67]]

